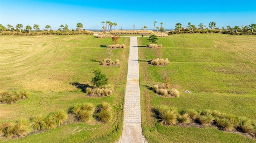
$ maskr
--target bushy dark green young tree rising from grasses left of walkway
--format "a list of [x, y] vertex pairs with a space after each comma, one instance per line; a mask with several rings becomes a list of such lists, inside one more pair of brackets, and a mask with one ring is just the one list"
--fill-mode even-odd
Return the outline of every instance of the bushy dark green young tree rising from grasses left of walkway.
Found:
[[106, 74], [102, 74], [100, 69], [94, 69], [94, 78], [92, 78], [91, 83], [97, 87], [102, 87], [108, 84], [108, 78], [106, 78]]

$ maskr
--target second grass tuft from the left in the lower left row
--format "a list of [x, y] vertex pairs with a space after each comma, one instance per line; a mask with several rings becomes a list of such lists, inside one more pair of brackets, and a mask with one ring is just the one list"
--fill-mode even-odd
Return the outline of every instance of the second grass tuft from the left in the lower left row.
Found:
[[16, 121], [14, 125], [14, 134], [19, 137], [24, 137], [28, 135], [32, 131], [29, 121], [27, 119], [19, 119]]

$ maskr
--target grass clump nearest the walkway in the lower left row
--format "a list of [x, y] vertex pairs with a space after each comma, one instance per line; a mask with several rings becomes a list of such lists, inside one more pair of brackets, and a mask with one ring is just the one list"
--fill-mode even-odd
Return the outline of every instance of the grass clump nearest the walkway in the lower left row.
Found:
[[96, 108], [95, 118], [102, 122], [110, 122], [113, 119], [112, 107], [108, 102], [104, 101]]

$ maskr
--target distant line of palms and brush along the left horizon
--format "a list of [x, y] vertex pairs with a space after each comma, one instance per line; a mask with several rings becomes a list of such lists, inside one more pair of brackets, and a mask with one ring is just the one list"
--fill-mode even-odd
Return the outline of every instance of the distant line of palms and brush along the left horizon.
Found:
[[77, 34], [87, 34], [92, 35], [93, 32], [86, 31], [83, 28], [82, 23], [76, 24], [76, 29], [68, 29], [68, 25], [60, 25], [58, 30], [52, 30], [50, 25], [46, 25], [45, 29], [40, 30], [38, 24], [34, 24], [33, 29], [35, 31], [31, 31], [32, 27], [30, 25], [26, 25], [25, 29], [22, 24], [17, 24], [15, 27], [8, 24], [7, 27], [0, 24], [0, 35], [77, 35]]

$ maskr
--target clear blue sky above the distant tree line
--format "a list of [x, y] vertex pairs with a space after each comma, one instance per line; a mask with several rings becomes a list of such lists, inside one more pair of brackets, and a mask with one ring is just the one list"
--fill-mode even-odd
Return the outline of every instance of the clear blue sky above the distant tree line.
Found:
[[[67, 24], [76, 29], [78, 22], [84, 29], [102, 29], [101, 22], [116, 22], [116, 29], [153, 29], [154, 21], [164, 29], [174, 29], [180, 22], [183, 27], [188, 22], [198, 27], [216, 22], [216, 27], [250, 25], [256, 23], [256, 1], [248, 0], [0, 0], [0, 24], [23, 24], [40, 29], [50, 25], [58, 29]], [[113, 27], [114, 29], [114, 27]]]

